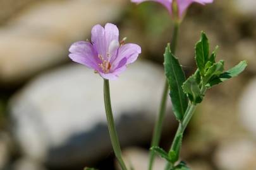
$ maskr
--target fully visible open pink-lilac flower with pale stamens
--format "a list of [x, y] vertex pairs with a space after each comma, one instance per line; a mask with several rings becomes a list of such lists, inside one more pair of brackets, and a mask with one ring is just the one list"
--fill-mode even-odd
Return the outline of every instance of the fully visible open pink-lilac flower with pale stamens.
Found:
[[95, 25], [92, 28], [92, 43], [75, 42], [70, 47], [70, 59], [94, 69], [104, 79], [116, 79], [134, 62], [141, 48], [134, 43], [119, 42], [119, 30], [116, 25], [107, 23], [105, 28]]

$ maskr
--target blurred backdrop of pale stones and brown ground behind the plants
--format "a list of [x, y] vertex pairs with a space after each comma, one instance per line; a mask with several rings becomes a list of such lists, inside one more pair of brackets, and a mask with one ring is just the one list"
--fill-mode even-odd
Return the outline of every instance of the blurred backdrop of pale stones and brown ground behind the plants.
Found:
[[[193, 4], [181, 25], [177, 56], [186, 75], [196, 67], [200, 31], [226, 69], [248, 60], [241, 76], [207, 91], [186, 130], [181, 157], [195, 170], [256, 169], [256, 1]], [[115, 23], [120, 39], [142, 55], [117, 81], [111, 97], [127, 164], [147, 167], [152, 128], [164, 84], [170, 16], [157, 3], [128, 0], [0, 0], [0, 169], [118, 169], [103, 107], [102, 79], [74, 64], [68, 48], [90, 39], [92, 26]], [[168, 102], [161, 147], [177, 122]], [[164, 165], [157, 158], [155, 169]]]

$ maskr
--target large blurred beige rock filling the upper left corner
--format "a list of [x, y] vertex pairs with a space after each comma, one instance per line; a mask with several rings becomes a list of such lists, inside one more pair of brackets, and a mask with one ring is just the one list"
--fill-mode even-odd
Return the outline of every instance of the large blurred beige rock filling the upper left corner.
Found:
[[[40, 1], [0, 29], [0, 81], [17, 82], [68, 57], [92, 26], [114, 21], [123, 0]], [[114, 9], [114, 10], [113, 10]]]

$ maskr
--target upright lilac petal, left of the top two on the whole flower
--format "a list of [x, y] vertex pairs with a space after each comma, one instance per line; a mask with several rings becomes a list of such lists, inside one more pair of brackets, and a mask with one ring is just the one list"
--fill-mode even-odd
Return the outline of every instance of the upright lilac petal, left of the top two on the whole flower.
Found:
[[101, 25], [95, 25], [92, 28], [92, 44], [94, 45], [95, 50], [99, 55], [102, 57], [106, 57], [106, 37], [105, 37], [105, 30]]

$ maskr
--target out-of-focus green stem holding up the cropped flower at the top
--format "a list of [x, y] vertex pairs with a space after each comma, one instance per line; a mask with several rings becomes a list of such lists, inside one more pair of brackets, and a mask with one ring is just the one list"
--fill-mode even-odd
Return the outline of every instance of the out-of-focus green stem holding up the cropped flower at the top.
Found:
[[[175, 52], [176, 52], [179, 26], [180, 26], [179, 23], [174, 24], [173, 37], [172, 37], [172, 40], [171, 40], [171, 51], [173, 52], [173, 54], [175, 54]], [[162, 123], [164, 121], [164, 115], [166, 113], [166, 101], [167, 101], [167, 98], [168, 98], [168, 91], [169, 91], [169, 86], [168, 86], [168, 82], [166, 81], [165, 84], [164, 84], [164, 90], [163, 90], [163, 93], [162, 93], [162, 99], [161, 99], [161, 103], [160, 103], [159, 114], [158, 114], [157, 120], [155, 122], [151, 147], [159, 145], [159, 141], [160, 141], [160, 138], [161, 138], [161, 132], [162, 132]], [[154, 158], [155, 158], [155, 153], [154, 153], [153, 150], [151, 150], [150, 151], [150, 158], [149, 158], [149, 170], [152, 170], [153, 163], [154, 163]]]

